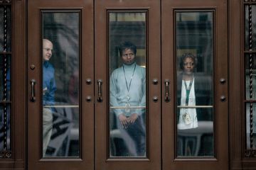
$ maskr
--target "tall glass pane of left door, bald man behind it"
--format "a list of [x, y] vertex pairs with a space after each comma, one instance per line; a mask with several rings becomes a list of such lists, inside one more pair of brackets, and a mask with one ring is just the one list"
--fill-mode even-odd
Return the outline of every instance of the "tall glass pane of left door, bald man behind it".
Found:
[[43, 157], [80, 157], [80, 11], [42, 12]]

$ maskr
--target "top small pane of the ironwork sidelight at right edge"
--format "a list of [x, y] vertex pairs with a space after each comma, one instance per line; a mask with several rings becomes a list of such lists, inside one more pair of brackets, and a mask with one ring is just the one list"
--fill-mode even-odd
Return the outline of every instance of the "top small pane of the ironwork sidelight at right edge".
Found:
[[[256, 50], [256, 6], [245, 6], [245, 50]], [[251, 17], [250, 17], [251, 16]], [[250, 28], [250, 18], [252, 27]], [[252, 37], [250, 38], [250, 33]]]

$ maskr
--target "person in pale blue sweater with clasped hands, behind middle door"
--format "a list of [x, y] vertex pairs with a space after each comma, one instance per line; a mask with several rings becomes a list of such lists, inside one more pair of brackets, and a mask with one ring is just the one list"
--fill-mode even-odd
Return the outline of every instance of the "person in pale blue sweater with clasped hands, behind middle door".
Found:
[[[136, 63], [137, 47], [132, 42], [119, 45], [122, 66], [110, 77], [110, 105], [122, 133], [129, 157], [145, 157], [146, 69]], [[132, 108], [133, 107], [133, 108]], [[138, 108], [137, 108], [138, 107]], [[140, 108], [141, 107], [141, 108]]]

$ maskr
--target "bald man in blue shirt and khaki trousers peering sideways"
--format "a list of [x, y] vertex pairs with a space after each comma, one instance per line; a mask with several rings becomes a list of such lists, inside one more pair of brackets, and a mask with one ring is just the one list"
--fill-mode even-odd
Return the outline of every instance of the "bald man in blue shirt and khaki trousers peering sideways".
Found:
[[54, 68], [50, 64], [53, 55], [53, 43], [43, 39], [43, 157], [46, 154], [53, 131], [53, 106], [56, 91]]

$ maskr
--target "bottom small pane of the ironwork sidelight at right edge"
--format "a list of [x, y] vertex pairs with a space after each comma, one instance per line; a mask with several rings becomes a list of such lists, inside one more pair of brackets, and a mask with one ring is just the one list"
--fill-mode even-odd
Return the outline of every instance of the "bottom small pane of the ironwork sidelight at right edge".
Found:
[[256, 149], [256, 103], [246, 103], [246, 148]]

